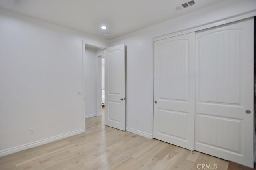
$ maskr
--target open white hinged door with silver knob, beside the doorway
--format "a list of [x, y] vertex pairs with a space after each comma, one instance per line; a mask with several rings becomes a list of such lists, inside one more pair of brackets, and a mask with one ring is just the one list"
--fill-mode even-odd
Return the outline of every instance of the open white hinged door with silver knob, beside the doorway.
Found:
[[125, 54], [124, 44], [105, 52], [105, 123], [125, 130]]

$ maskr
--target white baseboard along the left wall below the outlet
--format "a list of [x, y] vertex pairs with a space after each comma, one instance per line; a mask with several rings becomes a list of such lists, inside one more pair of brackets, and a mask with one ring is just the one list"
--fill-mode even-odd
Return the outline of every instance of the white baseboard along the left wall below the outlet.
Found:
[[50, 137], [50, 138], [46, 138], [46, 139], [43, 139], [43, 140], [38, 140], [36, 142], [31, 142], [31, 143], [23, 144], [23, 145], [16, 146], [16, 147], [13, 147], [13, 148], [5, 149], [5, 150], [0, 150], [0, 157], [8, 155], [8, 154], [15, 153], [15, 152], [19, 152], [21, 150], [25, 150], [25, 149], [28, 149], [28, 148], [33, 148], [35, 146], [39, 146], [39, 145], [46, 144], [46, 143], [49, 143], [49, 142], [53, 142], [55, 140], [60, 140], [60, 139], [63, 139], [63, 138], [74, 136], [74, 135], [80, 134], [82, 132], [84, 132], [84, 129], [75, 130], [73, 132], [68, 132], [68, 133], [65, 133], [65, 134], [60, 134], [60, 135], [53, 136], [53, 137]]

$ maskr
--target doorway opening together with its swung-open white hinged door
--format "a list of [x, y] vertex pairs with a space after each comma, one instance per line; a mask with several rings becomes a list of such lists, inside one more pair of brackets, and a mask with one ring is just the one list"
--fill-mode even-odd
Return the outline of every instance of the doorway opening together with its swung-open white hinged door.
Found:
[[[124, 44], [106, 49], [85, 44], [83, 55], [83, 95], [85, 118], [98, 117], [104, 110], [105, 124], [125, 130]], [[104, 109], [102, 109], [102, 58], [104, 62]]]

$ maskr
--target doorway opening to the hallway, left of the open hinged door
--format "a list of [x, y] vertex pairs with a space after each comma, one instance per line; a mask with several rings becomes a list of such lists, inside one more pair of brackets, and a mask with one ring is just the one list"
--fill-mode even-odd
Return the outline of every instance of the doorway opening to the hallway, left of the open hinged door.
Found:
[[[104, 113], [104, 54], [105, 49], [85, 44], [84, 52], [84, 113], [85, 118], [100, 117]], [[102, 62], [103, 61], [103, 62]]]

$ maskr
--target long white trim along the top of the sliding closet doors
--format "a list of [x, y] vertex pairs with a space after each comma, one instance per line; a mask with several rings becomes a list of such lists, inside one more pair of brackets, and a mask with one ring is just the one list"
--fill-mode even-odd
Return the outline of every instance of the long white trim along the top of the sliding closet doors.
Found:
[[214, 21], [214, 22], [210, 22], [210, 23], [206, 23], [206, 24], [186, 28], [184, 30], [180, 30], [180, 31], [177, 31], [177, 32], [172, 32], [172, 33], [169, 33], [169, 34], [166, 34], [166, 35], [157, 36], [157, 37], [153, 38], [153, 41], [158, 41], [158, 40], [162, 40], [162, 39], [165, 39], [165, 38], [170, 38], [170, 37], [179, 36], [179, 35], [182, 35], [182, 34], [187, 34], [187, 33], [190, 33], [190, 32], [196, 32], [196, 31], [199, 31], [199, 30], [204, 30], [206, 28], [212, 28], [212, 27], [215, 27], [215, 26], [228, 24], [230, 22], [243, 20], [243, 19], [250, 18], [250, 17], [253, 17], [253, 16], [256, 16], [256, 10], [249, 11], [249, 12], [246, 12], [244, 14], [240, 14], [238, 16], [223, 18], [222, 20], [217, 20], [217, 21]]

